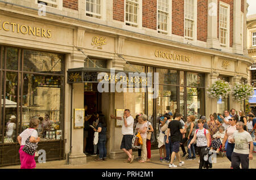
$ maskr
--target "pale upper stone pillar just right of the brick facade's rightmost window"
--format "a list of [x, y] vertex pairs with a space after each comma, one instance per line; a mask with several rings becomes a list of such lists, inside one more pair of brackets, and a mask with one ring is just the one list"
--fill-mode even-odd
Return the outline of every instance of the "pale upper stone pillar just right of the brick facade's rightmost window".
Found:
[[233, 53], [243, 54], [241, 41], [241, 0], [234, 0]]

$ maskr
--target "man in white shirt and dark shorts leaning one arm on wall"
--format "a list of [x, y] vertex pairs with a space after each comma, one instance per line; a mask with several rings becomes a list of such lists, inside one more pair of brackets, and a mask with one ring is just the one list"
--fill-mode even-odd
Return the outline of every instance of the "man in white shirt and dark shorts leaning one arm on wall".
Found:
[[129, 156], [127, 162], [132, 163], [134, 160], [134, 155], [132, 155], [133, 150], [132, 150], [131, 143], [133, 141], [134, 119], [130, 115], [130, 110], [126, 109], [125, 113], [123, 113], [123, 117], [115, 117], [114, 115], [110, 115], [110, 117], [113, 119], [118, 119], [123, 121], [123, 125], [122, 125], [123, 139], [121, 143], [121, 149], [123, 150], [123, 152], [126, 153], [126, 155]]

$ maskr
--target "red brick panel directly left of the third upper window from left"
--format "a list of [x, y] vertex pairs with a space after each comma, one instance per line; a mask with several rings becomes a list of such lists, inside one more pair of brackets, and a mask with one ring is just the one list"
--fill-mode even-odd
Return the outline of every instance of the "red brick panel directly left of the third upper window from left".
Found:
[[113, 0], [113, 19], [124, 22], [125, 0]]

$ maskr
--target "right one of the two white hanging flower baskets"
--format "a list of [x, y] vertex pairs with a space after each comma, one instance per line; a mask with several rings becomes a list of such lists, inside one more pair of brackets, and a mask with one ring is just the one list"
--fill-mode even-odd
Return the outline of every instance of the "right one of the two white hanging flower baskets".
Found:
[[232, 88], [232, 97], [236, 101], [249, 100], [253, 96], [254, 90], [250, 84], [237, 83]]

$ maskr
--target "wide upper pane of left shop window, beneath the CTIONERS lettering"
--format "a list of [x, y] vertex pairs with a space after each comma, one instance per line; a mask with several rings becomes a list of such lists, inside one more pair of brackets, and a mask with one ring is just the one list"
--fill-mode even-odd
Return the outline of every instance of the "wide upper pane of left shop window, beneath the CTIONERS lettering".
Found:
[[24, 50], [23, 71], [43, 73], [63, 73], [63, 55]]

